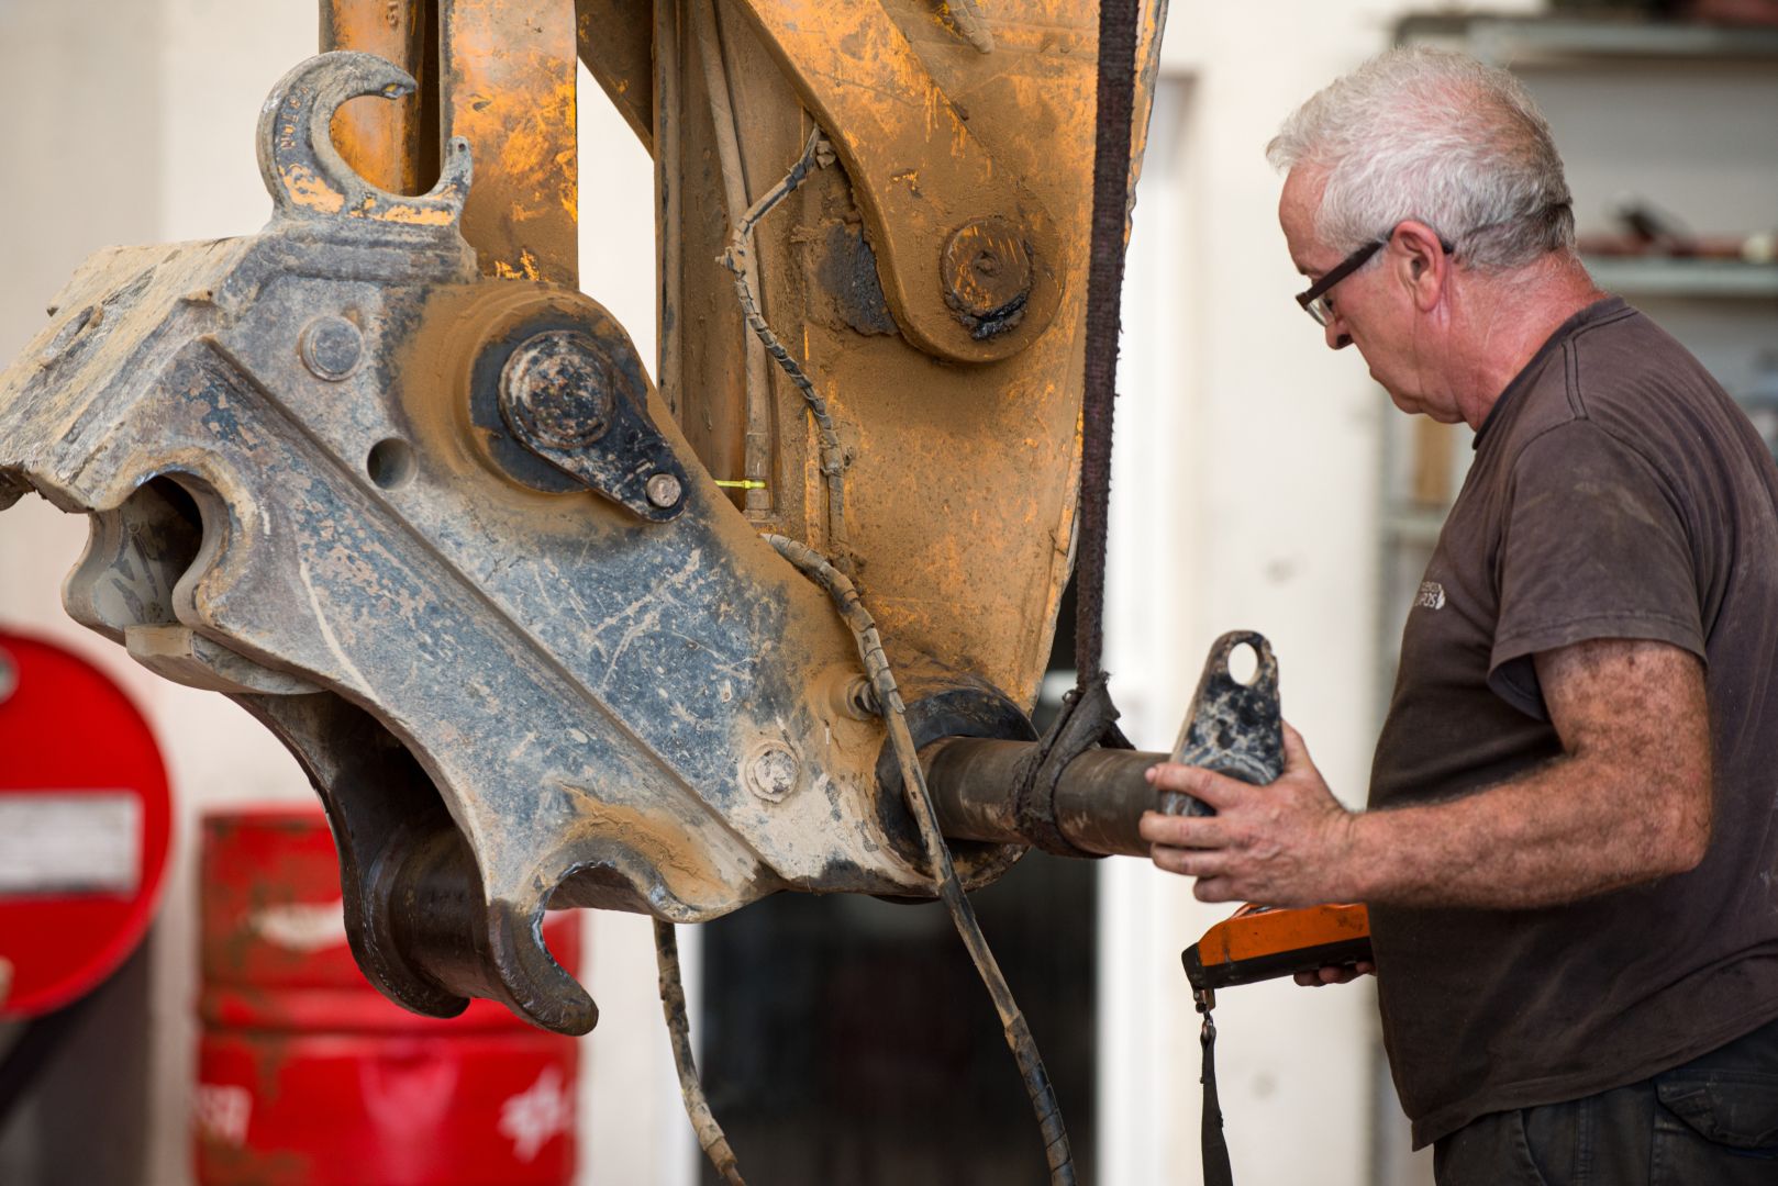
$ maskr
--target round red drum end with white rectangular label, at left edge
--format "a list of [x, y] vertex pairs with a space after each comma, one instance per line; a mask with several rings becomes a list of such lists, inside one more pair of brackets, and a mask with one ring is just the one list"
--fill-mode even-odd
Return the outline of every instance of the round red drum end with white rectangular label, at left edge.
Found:
[[171, 830], [167, 768], [123, 688], [0, 633], [0, 1019], [60, 1008], [123, 964]]

